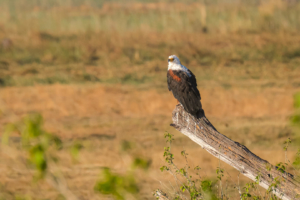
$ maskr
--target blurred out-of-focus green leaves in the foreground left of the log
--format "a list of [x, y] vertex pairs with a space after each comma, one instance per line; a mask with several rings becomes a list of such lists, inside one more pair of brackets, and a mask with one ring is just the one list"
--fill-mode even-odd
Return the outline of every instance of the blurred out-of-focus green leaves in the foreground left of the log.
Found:
[[[18, 156], [22, 157], [21, 160], [24, 157], [27, 161], [26, 166], [34, 169], [35, 175], [33, 180], [47, 180], [51, 182], [53, 187], [64, 198], [70, 199], [76, 197], [69, 191], [68, 186], [63, 181], [64, 176], [61, 172], [60, 160], [57, 154], [63, 148], [68, 147], [72, 158], [76, 160], [83, 145], [78, 141], [73, 142], [71, 145], [64, 144], [59, 137], [45, 131], [43, 128], [43, 118], [38, 114], [29, 115], [22, 121], [7, 126], [6, 132], [2, 136], [2, 143], [7, 148], [10, 148], [9, 146], [13, 147], [9, 141], [10, 135], [13, 133], [20, 135], [21, 151], [18, 152]], [[131, 146], [128, 141], [123, 141], [123, 153], [130, 153]], [[23, 153], [25, 153], [25, 156], [23, 156]], [[102, 170], [102, 177], [94, 186], [94, 191], [103, 195], [112, 195], [116, 199], [127, 199], [130, 197], [128, 196], [129, 194], [137, 197], [140, 186], [135, 178], [135, 170], [138, 168], [147, 170], [151, 161], [138, 156], [133, 157], [132, 169], [126, 175], [116, 174], [111, 172], [109, 168], [104, 168]], [[18, 199], [18, 196], [14, 197]]]

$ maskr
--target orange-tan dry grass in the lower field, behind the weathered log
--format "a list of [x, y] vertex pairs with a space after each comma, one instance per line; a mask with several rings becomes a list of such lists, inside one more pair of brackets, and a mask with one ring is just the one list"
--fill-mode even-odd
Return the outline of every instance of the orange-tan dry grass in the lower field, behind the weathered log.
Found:
[[[267, 88], [251, 92], [238, 88], [213, 88], [202, 89], [201, 94], [206, 115], [219, 131], [247, 145], [271, 163], [277, 163], [284, 160], [284, 152], [280, 148], [282, 142], [292, 136], [286, 125], [293, 111], [294, 91]], [[152, 160], [148, 173], [138, 173], [141, 195], [146, 199], [151, 197], [152, 189], [159, 187], [160, 181], [168, 185], [167, 180], [172, 180], [168, 175], [162, 177], [159, 171], [163, 164], [164, 131], [175, 134], [173, 149], [177, 155], [185, 149], [192, 167], [200, 165], [203, 175], [215, 176], [212, 169], [218, 166], [218, 160], [169, 127], [175, 103], [170, 93], [138, 91], [134, 86], [93, 84], [3, 88], [1, 124], [16, 121], [26, 113], [39, 112], [46, 119], [47, 130], [61, 136], [67, 143], [81, 141], [84, 149], [77, 163], [72, 162], [68, 149], [61, 151], [59, 157], [70, 189], [83, 199], [98, 198], [90, 186], [102, 167], [124, 172], [130, 158], [128, 160], [128, 156], [120, 150], [121, 141], [133, 142], [136, 155]], [[290, 160], [293, 155], [294, 150], [288, 154]], [[179, 163], [184, 163], [182, 158], [177, 159]], [[25, 184], [31, 182], [31, 174], [20, 165], [9, 170], [9, 166], [18, 163], [11, 158], [11, 154], [2, 157], [2, 161], [1, 168], [6, 171], [1, 178], [4, 193], [42, 198], [44, 193], [34, 191], [49, 190], [49, 198], [58, 198], [47, 184]], [[229, 166], [225, 168], [231, 179], [237, 181], [237, 172]], [[16, 184], [16, 181], [20, 183], [20, 179], [14, 177], [15, 173], [24, 176], [25, 182]]]

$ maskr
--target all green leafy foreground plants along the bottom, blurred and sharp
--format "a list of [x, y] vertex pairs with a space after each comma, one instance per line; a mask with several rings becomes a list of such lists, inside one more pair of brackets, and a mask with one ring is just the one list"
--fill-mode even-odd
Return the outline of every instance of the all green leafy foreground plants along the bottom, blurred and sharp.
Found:
[[[9, 136], [12, 133], [18, 133], [21, 138], [22, 150], [19, 152], [19, 156], [22, 156], [22, 152], [26, 152], [26, 159], [28, 166], [35, 169], [36, 173], [33, 180], [48, 180], [52, 182], [54, 188], [56, 188], [65, 198], [75, 197], [73, 193], [70, 193], [68, 187], [64, 185], [63, 175], [59, 167], [59, 159], [56, 154], [66, 146], [63, 141], [44, 130], [43, 119], [40, 115], [30, 115], [25, 117], [23, 121], [19, 123], [9, 124], [7, 126], [6, 133], [2, 136], [2, 143], [9, 145]], [[185, 150], [181, 151], [181, 156], [184, 157], [186, 165], [178, 167], [175, 164], [175, 156], [171, 152], [171, 144], [174, 142], [173, 135], [166, 133], [168, 147], [164, 148], [164, 158], [167, 165], [164, 165], [160, 170], [169, 172], [175, 179], [177, 189], [173, 195], [168, 195], [171, 199], [230, 199], [233, 197], [232, 192], [228, 192], [228, 186], [222, 188], [222, 181], [224, 181], [224, 169], [220, 166], [216, 170], [216, 180], [211, 181], [203, 178], [200, 172], [199, 166], [193, 167], [188, 163], [188, 154]], [[283, 150], [287, 153], [289, 145], [292, 141], [287, 139], [284, 142]], [[68, 146], [68, 145], [67, 145]], [[137, 168], [147, 170], [150, 166], [150, 161], [135, 156], [133, 153], [133, 143], [124, 140], [121, 143], [121, 151], [125, 154], [132, 156], [133, 162], [131, 169], [129, 169], [124, 175], [117, 174], [111, 171], [109, 168], [102, 170], [101, 178], [96, 182], [94, 191], [103, 195], [112, 195], [115, 199], [127, 199], [132, 195], [138, 198], [139, 184], [135, 178], [135, 171]], [[70, 146], [71, 156], [78, 158], [78, 153], [82, 149], [82, 145], [79, 142], [75, 142]], [[292, 162], [294, 170], [299, 169], [300, 149], [296, 155], [295, 161]], [[285, 170], [290, 166], [290, 162], [285, 161], [278, 163], [277, 170], [285, 173]], [[270, 166], [269, 170], [271, 169]], [[53, 171], [55, 169], [55, 172]], [[227, 172], [228, 174], [228, 172]], [[218, 186], [218, 181], [220, 186]], [[266, 191], [265, 196], [262, 196], [258, 185], [260, 182], [260, 175], [256, 177], [255, 182], [250, 182], [243, 187], [243, 192], [240, 191], [240, 185], [235, 184], [233, 187], [239, 191], [240, 198], [247, 199], [279, 199], [272, 194], [272, 191], [280, 186], [280, 179], [274, 177], [273, 182], [270, 184], [269, 189]], [[63, 189], [62, 189], [63, 188]], [[236, 192], [237, 192], [236, 191]], [[20, 195], [19, 195], [20, 196]], [[187, 197], [188, 196], [188, 197]], [[15, 198], [18, 198], [15, 196]], [[28, 197], [30, 199], [30, 197]], [[27, 199], [27, 197], [25, 197]]]

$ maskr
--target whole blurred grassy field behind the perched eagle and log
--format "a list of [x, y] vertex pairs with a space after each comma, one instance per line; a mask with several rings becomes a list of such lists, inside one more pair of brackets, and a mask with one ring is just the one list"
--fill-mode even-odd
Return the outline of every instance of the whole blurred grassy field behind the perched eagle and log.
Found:
[[[221, 133], [272, 164], [285, 161], [290, 137], [292, 161], [300, 146], [290, 125], [299, 31], [297, 1], [0, 0], [0, 130], [40, 113], [67, 146], [80, 142], [77, 161], [68, 148], [58, 154], [80, 199], [103, 199], [93, 190], [101, 170], [124, 174], [134, 156], [151, 160], [136, 172], [136, 199], [169, 190], [174, 180], [159, 170], [166, 131], [179, 165], [184, 149], [191, 167], [216, 180], [218, 159], [169, 126], [176, 100], [167, 90], [167, 57], [176, 54], [196, 75], [205, 113]], [[20, 136], [11, 141], [0, 151], [0, 198], [63, 199], [48, 182], [32, 181]], [[133, 144], [129, 154], [124, 141]], [[221, 165], [230, 199], [238, 199], [231, 187], [238, 172]]]

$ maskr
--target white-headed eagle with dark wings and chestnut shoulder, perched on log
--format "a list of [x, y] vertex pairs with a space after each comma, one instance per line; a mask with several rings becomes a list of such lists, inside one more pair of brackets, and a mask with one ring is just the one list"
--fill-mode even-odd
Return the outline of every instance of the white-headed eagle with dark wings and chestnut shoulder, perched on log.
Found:
[[172, 91], [188, 113], [197, 118], [199, 111], [202, 111], [202, 105], [196, 77], [175, 55], [169, 56], [167, 78], [169, 91]]

